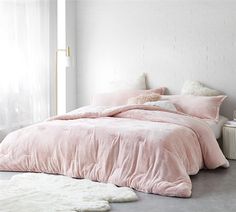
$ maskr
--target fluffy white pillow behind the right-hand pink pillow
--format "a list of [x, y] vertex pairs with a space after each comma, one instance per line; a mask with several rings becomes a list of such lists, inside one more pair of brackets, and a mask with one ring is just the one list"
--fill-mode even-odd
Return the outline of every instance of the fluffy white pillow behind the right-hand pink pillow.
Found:
[[189, 80], [184, 83], [181, 94], [194, 96], [218, 96], [221, 92], [208, 88], [198, 81]]

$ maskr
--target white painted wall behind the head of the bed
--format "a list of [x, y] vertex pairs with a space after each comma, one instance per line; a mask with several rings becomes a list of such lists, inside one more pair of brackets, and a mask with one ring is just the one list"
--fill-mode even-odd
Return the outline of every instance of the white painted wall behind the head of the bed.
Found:
[[236, 1], [77, 2], [79, 106], [107, 78], [146, 72], [150, 87], [179, 93], [187, 79], [224, 91], [236, 108]]

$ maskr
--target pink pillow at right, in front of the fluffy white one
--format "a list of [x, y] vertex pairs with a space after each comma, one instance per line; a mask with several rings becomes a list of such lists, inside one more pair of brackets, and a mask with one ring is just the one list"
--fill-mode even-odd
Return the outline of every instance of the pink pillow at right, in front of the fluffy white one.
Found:
[[178, 111], [202, 119], [218, 121], [220, 105], [226, 96], [163, 95], [161, 100], [171, 101]]

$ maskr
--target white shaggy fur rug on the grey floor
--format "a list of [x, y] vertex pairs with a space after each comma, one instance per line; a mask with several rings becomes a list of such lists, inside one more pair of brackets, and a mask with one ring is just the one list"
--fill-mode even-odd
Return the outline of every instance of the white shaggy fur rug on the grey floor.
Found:
[[4, 212], [108, 211], [109, 202], [135, 200], [130, 188], [60, 175], [26, 173], [0, 180]]

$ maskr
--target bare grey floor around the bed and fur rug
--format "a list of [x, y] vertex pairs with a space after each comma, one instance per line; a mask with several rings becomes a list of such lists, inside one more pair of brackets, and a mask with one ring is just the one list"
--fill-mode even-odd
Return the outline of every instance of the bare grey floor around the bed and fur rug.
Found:
[[[0, 179], [10, 179], [16, 173], [0, 172]], [[113, 211], [125, 212], [235, 212], [236, 211], [236, 160], [230, 168], [202, 170], [192, 177], [192, 197], [187, 199], [163, 197], [137, 192], [139, 201], [113, 203]]]

